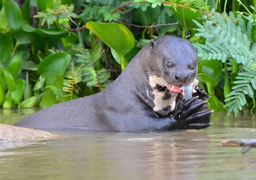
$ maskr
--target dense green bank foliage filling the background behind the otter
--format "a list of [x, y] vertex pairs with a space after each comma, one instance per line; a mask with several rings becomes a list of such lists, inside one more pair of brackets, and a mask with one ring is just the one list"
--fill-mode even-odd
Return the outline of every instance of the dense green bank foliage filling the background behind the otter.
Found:
[[102, 91], [141, 47], [169, 34], [198, 49], [197, 78], [211, 109], [254, 110], [255, 6], [240, 0], [0, 0], [0, 106], [46, 108]]

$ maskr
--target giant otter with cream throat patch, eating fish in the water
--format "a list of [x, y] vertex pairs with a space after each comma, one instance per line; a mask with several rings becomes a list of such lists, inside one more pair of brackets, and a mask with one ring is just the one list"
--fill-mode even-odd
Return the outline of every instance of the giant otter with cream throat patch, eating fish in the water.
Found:
[[177, 97], [181, 85], [196, 86], [197, 69], [197, 51], [188, 40], [160, 36], [142, 48], [106, 90], [50, 106], [13, 125], [111, 132], [204, 129], [212, 113], [204, 101], [207, 94], [197, 89], [199, 98]]

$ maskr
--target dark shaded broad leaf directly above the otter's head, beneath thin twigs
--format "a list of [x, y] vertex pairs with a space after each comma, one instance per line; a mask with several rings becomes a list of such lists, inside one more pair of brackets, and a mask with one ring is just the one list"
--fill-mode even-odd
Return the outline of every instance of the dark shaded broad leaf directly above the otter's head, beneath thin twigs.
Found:
[[137, 8], [135, 10], [135, 17], [137, 22], [139, 22], [142, 26], [149, 26], [152, 21], [155, 21], [158, 18], [160, 12], [160, 6], [157, 6], [156, 8], [148, 6], [146, 11], [142, 11], [141, 8]]

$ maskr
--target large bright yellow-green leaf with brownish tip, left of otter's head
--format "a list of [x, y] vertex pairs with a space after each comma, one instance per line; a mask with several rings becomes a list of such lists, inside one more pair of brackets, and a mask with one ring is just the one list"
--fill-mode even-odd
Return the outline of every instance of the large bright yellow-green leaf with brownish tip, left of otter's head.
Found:
[[134, 46], [132, 32], [122, 24], [87, 22], [86, 28], [98, 36], [108, 47], [116, 50], [120, 58]]

